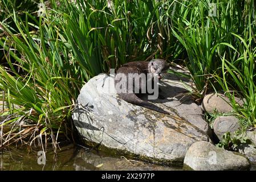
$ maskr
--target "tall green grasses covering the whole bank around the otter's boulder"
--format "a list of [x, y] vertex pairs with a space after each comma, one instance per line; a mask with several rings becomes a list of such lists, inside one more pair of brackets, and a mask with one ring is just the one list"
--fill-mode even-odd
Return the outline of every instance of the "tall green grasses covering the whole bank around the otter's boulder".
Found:
[[223, 92], [242, 130], [256, 125], [253, 0], [0, 0], [0, 9], [0, 147], [72, 140], [83, 84], [152, 58], [186, 67], [195, 100]]

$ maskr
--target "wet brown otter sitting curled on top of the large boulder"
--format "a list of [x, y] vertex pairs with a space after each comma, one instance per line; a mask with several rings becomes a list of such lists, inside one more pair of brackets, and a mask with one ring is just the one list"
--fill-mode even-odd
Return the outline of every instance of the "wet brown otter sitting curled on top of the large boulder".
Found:
[[[158, 111], [160, 113], [169, 114], [167, 111], [157, 107], [154, 104], [151, 104], [148, 101], [143, 101], [139, 97], [136, 96], [137, 90], [145, 90], [147, 88], [148, 81], [154, 82], [154, 77], [157, 77], [159, 80], [162, 78], [162, 72], [168, 69], [168, 65], [165, 60], [162, 59], [153, 59], [151, 61], [133, 61], [122, 65], [119, 69], [117, 69], [115, 76], [115, 89], [117, 95], [131, 104], [135, 104], [138, 106], [146, 107], [151, 110]], [[131, 75], [134, 77], [139, 77], [140, 83], [135, 84], [132, 80], [132, 84], [129, 79], [131, 79]], [[143, 75], [145, 75], [143, 77]], [[146, 79], [143, 79], [146, 78]], [[139, 80], [138, 79], [138, 80]], [[121, 88], [122, 85], [124, 88]], [[120, 86], [120, 87], [119, 87]], [[148, 91], [148, 90], [147, 90]], [[158, 90], [157, 90], [158, 92]], [[148, 92], [146, 92], [148, 93]]]

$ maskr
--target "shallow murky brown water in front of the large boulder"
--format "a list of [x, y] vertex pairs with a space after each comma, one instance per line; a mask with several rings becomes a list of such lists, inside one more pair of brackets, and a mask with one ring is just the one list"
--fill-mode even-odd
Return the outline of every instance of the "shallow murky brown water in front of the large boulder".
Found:
[[113, 158], [73, 144], [62, 147], [57, 156], [48, 150], [45, 165], [38, 164], [37, 154], [38, 151], [29, 152], [27, 148], [0, 151], [0, 170], [181, 170], [181, 167]]

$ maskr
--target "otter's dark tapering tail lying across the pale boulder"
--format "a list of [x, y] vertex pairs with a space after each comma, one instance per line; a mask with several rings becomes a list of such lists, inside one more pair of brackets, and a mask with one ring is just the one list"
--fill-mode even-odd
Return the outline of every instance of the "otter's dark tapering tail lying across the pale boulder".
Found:
[[121, 97], [121, 99], [123, 99], [124, 101], [127, 101], [131, 104], [135, 104], [138, 106], [142, 106], [142, 107], [146, 107], [148, 109], [151, 110], [155, 110], [159, 113], [164, 113], [164, 114], [170, 114], [167, 111], [161, 109], [160, 107], [157, 107], [156, 105], [153, 105], [147, 101], [143, 101], [141, 100], [139, 97], [137, 97], [134, 93], [121, 93], [119, 94], [119, 96]]

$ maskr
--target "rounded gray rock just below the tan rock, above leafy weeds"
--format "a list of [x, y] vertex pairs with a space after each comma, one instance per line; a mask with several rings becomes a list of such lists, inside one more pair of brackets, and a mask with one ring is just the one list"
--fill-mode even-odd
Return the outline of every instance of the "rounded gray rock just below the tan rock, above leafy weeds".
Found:
[[230, 132], [230, 134], [232, 134], [239, 129], [239, 126], [239, 120], [232, 115], [219, 116], [213, 122], [214, 133], [220, 140], [222, 139], [222, 135], [226, 132]]

